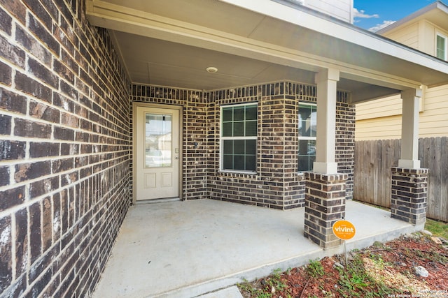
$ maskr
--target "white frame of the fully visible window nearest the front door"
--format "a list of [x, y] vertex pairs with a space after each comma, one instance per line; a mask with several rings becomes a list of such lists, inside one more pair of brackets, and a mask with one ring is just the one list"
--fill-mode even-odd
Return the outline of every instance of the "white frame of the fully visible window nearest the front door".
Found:
[[[258, 156], [258, 113], [257, 113], [257, 135], [254, 136], [242, 136], [242, 137], [224, 137], [223, 136], [223, 109], [225, 107], [243, 107], [247, 105], [255, 105], [258, 110], [258, 103], [237, 103], [235, 105], [221, 105], [220, 107], [220, 119], [219, 119], [219, 126], [220, 126], [220, 133], [219, 133], [219, 144], [220, 144], [220, 151], [219, 151], [219, 170], [220, 172], [230, 172], [230, 173], [240, 173], [240, 174], [256, 174], [257, 171], [257, 156]], [[224, 141], [225, 140], [255, 140], [255, 143], [257, 144], [257, 148], [255, 148], [255, 171], [247, 171], [247, 170], [224, 170]]]

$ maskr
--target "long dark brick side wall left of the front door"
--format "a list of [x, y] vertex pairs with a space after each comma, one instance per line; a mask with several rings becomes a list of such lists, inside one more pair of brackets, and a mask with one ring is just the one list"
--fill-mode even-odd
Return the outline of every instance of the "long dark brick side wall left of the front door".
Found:
[[84, 1], [0, 0], [0, 297], [88, 297], [129, 206], [129, 82]]

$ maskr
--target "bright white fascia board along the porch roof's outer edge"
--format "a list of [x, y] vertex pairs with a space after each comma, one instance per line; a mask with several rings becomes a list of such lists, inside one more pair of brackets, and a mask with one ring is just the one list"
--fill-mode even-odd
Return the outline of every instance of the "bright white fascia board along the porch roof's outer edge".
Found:
[[441, 63], [433, 57], [416, 52], [414, 50], [388, 40], [377, 34], [358, 29], [351, 24], [342, 21], [326, 20], [316, 15], [311, 15], [300, 9], [291, 8], [271, 0], [220, 0], [241, 8], [252, 10], [262, 15], [268, 15], [279, 20], [295, 24], [319, 33], [333, 36], [340, 40], [367, 47], [371, 50], [387, 54], [398, 59], [426, 66], [442, 73], [448, 73], [448, 64]]

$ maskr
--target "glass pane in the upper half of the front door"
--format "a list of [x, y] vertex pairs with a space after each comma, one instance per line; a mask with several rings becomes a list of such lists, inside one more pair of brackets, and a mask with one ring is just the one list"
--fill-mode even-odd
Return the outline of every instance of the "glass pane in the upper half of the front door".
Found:
[[145, 114], [145, 167], [172, 166], [172, 116]]

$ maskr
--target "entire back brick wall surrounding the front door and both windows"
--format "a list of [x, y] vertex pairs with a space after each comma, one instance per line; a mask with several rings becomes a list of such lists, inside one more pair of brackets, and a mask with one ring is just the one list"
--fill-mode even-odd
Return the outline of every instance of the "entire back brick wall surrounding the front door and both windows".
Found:
[[[348, 96], [337, 94], [336, 152], [339, 172], [349, 177], [346, 193], [351, 198], [354, 108]], [[136, 101], [183, 107], [183, 199], [212, 198], [275, 209], [304, 206], [304, 175], [297, 173], [298, 105], [316, 102], [315, 86], [276, 82], [199, 91], [134, 84], [130, 98], [131, 107]], [[220, 172], [220, 107], [251, 102], [258, 103], [257, 174]]]

